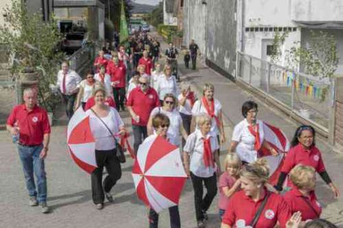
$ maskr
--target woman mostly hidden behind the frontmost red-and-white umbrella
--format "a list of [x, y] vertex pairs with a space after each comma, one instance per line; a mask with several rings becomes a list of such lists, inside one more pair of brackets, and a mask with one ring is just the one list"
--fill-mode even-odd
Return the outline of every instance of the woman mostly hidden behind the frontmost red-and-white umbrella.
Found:
[[[154, 127], [155, 134], [152, 136], [147, 137], [144, 142], [152, 140], [152, 138], [156, 138], [156, 136], [161, 136], [166, 140], [169, 140], [167, 137], [167, 131], [170, 125], [170, 121], [168, 116], [162, 113], [156, 114], [152, 118], [152, 127]], [[144, 144], [144, 142], [142, 144]], [[169, 216], [170, 216], [170, 227], [171, 228], [180, 228], [180, 214], [178, 212], [178, 205], [169, 207]], [[158, 227], [158, 214], [151, 208], [149, 212], [149, 220], [150, 220], [150, 228], [157, 228]]]

